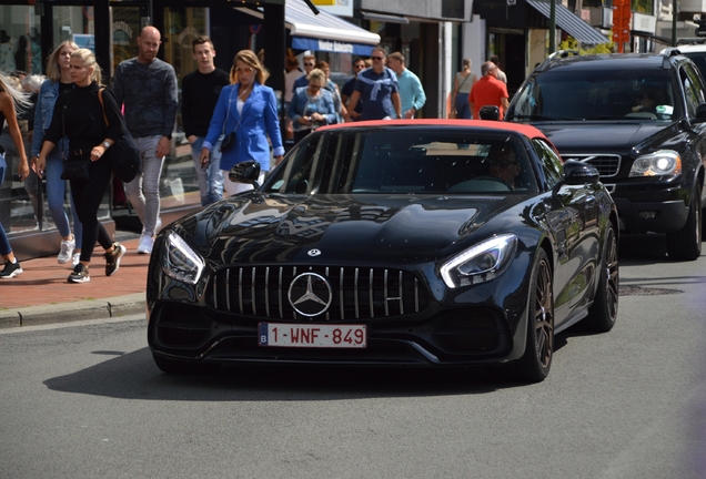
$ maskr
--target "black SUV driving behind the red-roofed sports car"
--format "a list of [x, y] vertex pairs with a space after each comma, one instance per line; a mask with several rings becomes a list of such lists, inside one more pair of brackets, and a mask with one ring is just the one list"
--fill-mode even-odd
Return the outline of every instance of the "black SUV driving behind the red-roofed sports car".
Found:
[[666, 233], [673, 259], [700, 255], [706, 84], [677, 50], [559, 52], [525, 80], [505, 121], [533, 124], [564, 161], [598, 169], [623, 232]]

